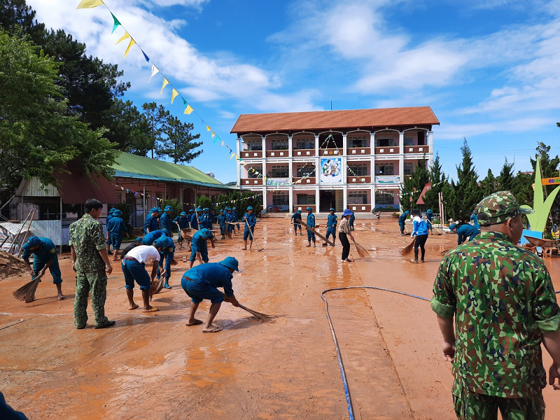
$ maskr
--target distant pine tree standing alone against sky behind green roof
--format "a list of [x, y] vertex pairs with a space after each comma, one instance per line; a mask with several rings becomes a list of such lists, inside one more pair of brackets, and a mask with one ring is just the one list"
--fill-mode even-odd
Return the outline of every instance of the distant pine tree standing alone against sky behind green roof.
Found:
[[170, 116], [167, 119], [167, 127], [163, 131], [166, 137], [155, 148], [158, 158], [168, 156], [172, 158], [173, 163], [188, 163], [200, 155], [202, 150], [194, 151], [194, 149], [202, 146], [202, 141], [193, 141], [200, 139], [200, 134], [190, 133], [193, 128], [193, 124], [182, 123], [179, 118]]

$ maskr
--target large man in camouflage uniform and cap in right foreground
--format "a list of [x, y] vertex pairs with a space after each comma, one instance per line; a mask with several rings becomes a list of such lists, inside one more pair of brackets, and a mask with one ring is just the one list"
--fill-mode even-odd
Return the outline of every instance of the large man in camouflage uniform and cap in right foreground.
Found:
[[[452, 361], [458, 419], [544, 419], [540, 343], [552, 356], [549, 384], [560, 390], [560, 309], [549, 272], [515, 244], [521, 209], [510, 191], [475, 209], [482, 234], [451, 249], [440, 264], [431, 307]], [[455, 328], [453, 318], [455, 317]], [[555, 383], [556, 382], [556, 383]]]

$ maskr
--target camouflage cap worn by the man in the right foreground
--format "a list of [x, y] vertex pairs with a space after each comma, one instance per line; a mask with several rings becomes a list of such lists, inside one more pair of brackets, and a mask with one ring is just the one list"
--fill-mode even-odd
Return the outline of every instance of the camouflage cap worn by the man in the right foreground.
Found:
[[532, 214], [532, 209], [521, 209], [511, 191], [498, 191], [482, 199], [475, 207], [481, 226], [497, 225], [518, 214]]

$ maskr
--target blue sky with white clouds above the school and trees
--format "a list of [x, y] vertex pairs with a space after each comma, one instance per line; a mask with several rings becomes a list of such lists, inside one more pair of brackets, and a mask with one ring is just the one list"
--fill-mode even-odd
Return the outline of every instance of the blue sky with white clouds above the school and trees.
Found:
[[[236, 178], [235, 160], [127, 41], [103, 6], [27, 0], [38, 20], [118, 64], [139, 108], [164, 104], [195, 125], [190, 165]], [[463, 136], [479, 176], [504, 158], [529, 170], [537, 141], [560, 154], [560, 0], [105, 0], [138, 45], [231, 148], [240, 113], [431, 106], [435, 151], [452, 176]]]

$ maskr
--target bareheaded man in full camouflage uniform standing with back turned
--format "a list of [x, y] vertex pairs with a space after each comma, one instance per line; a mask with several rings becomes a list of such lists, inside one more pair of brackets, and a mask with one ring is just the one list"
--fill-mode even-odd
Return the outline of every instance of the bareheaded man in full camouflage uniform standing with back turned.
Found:
[[97, 221], [102, 209], [99, 200], [87, 200], [85, 214], [69, 228], [72, 268], [76, 272], [74, 323], [78, 330], [85, 328], [87, 322], [87, 295], [90, 291], [95, 328], [115, 325], [115, 321], [109, 321], [105, 316], [107, 274], [111, 274], [113, 268], [107, 256], [103, 225]]

